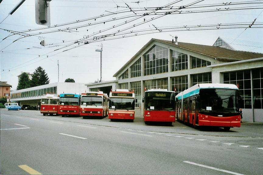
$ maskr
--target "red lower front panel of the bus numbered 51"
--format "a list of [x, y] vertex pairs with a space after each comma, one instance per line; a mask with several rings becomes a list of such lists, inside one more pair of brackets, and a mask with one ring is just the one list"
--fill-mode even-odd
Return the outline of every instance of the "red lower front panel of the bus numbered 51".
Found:
[[198, 113], [199, 126], [240, 127], [240, 115], [217, 117]]

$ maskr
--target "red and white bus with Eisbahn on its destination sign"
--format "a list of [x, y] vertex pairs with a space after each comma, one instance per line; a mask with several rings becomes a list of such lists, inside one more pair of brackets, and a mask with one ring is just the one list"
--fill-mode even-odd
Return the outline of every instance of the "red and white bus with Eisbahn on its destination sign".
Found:
[[128, 89], [110, 91], [109, 119], [128, 119], [133, 122], [135, 108], [135, 94]]

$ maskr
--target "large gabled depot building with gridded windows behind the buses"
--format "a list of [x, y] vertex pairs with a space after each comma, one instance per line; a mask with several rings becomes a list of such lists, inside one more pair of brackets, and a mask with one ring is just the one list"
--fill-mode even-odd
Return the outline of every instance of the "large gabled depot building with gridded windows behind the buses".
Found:
[[238, 51], [220, 37], [213, 46], [151, 39], [113, 77], [85, 84], [87, 91], [134, 91], [135, 114], [143, 116], [145, 88], [178, 94], [197, 83], [238, 84], [243, 121], [263, 122], [263, 54]]

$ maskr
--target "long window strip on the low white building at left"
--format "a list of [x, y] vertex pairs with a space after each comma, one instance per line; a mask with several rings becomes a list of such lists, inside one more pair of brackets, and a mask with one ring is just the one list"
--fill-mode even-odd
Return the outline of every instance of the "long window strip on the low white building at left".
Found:
[[11, 98], [27, 98], [27, 97], [36, 97], [41, 96], [44, 94], [57, 94], [57, 87], [47, 87], [44, 89], [38, 89], [38, 90], [32, 90], [32, 91], [26, 91], [26, 92], [19, 92], [15, 94], [11, 94]]

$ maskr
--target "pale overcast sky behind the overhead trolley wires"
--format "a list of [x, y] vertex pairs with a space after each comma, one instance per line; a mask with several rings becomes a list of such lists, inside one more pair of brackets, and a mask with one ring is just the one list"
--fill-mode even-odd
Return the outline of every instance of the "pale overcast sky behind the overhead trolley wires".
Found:
[[[254, 28], [259, 27], [260, 24], [263, 24], [263, 1], [258, 0], [232, 0], [232, 4], [235, 2], [257, 2], [257, 4], [232, 6], [212, 5], [222, 5], [223, 3], [227, 2], [221, 0], [204, 0], [202, 2], [198, 2], [196, 0], [182, 0], [178, 2], [172, 0], [140, 0], [139, 3], [138, 0], [52, 0], [50, 2], [51, 27], [54, 25], [59, 26], [60, 24], [65, 24], [68, 22], [75, 22], [74, 24], [54, 27], [52, 29], [39, 29], [46, 26], [36, 24], [35, 0], [26, 0], [23, 5], [21, 5], [19, 9], [16, 10], [16, 12], [14, 12], [12, 15], [9, 15], [9, 12], [11, 12], [11, 10], [19, 3], [19, 1], [20, 0], [3, 0], [0, 4], [0, 22], [2, 22], [0, 24], [0, 79], [1, 81], [7, 81], [8, 84], [12, 85], [11, 90], [16, 89], [18, 84], [17, 76], [21, 74], [21, 71], [33, 73], [34, 70], [39, 66], [43, 67], [46, 71], [50, 79], [50, 83], [58, 82], [58, 60], [60, 82], [64, 82], [67, 78], [73, 78], [75, 82], [78, 83], [89, 83], [100, 79], [100, 52], [95, 52], [95, 50], [100, 49], [101, 43], [103, 44], [103, 81], [115, 80], [115, 78], [112, 77], [113, 74], [115, 74], [128, 60], [130, 60], [135, 55], [135, 53], [137, 53], [147, 42], [149, 42], [151, 38], [172, 40], [172, 36], [178, 36], [178, 42], [212, 46], [216, 39], [219, 36], [222, 36], [237, 40], [249, 40], [257, 42], [257, 44], [254, 46], [257, 52], [260, 52], [258, 49], [262, 50], [263, 48], [263, 29]], [[191, 5], [192, 2], [198, 3]], [[145, 15], [141, 16], [140, 18], [138, 16], [140, 14], [149, 12], [151, 7], [163, 7], [167, 4], [171, 4], [168, 5], [169, 8], [163, 11], [157, 10], [156, 15]], [[197, 8], [200, 7], [200, 5], [205, 4], [207, 4], [209, 7]], [[196, 8], [176, 10], [176, 8], [180, 6]], [[130, 7], [132, 11], [128, 7]], [[151, 10], [154, 10], [155, 8]], [[226, 10], [227, 8], [230, 9]], [[231, 10], [235, 8], [238, 10]], [[135, 11], [138, 9], [139, 11]], [[215, 11], [216, 9], [218, 10]], [[157, 17], [161, 15], [161, 13], [158, 12], [169, 12], [172, 10], [175, 12], [172, 14], [163, 15], [157, 19]], [[199, 11], [201, 13], [193, 13], [197, 12], [196, 10], [201, 10]], [[202, 12], [204, 10], [209, 10], [212, 12]], [[181, 14], [178, 14], [180, 11], [182, 11]], [[184, 13], [186, 11], [191, 13]], [[97, 16], [100, 16], [100, 18], [95, 18], [95, 20], [93, 17]], [[132, 21], [132, 19], [135, 18], [138, 19]], [[90, 20], [76, 22], [83, 19]], [[246, 30], [245, 28], [222, 29], [222, 24], [226, 23], [241, 24], [241, 22], [244, 22], [248, 24], [248, 27], [249, 24], [252, 24], [254, 19], [256, 19], [255, 23], [253, 24], [254, 26], [252, 25], [251, 28], [247, 28]], [[125, 21], [127, 24], [123, 24]], [[101, 23], [96, 24], [96, 22]], [[145, 23], [138, 25], [142, 22]], [[118, 26], [119, 24], [123, 25]], [[221, 25], [219, 26], [219, 24]], [[135, 26], [130, 28], [133, 25]], [[201, 25], [200, 29], [205, 25], [218, 26], [210, 27], [211, 29], [213, 28], [215, 30], [191, 31], [190, 26], [197, 25]], [[163, 32], [165, 31], [163, 27], [172, 28], [176, 26], [185, 26], [185, 28], [188, 28], [189, 30]], [[124, 30], [128, 27], [130, 29]], [[216, 29], [216, 27], [219, 27], [219, 29]], [[69, 29], [63, 32], [59, 31], [65, 28]], [[31, 32], [28, 31], [29, 29], [39, 30]], [[103, 31], [105, 29], [108, 30]], [[155, 32], [157, 32], [140, 36], [137, 36], [135, 33], [136, 30], [142, 31], [150, 29], [155, 29]], [[161, 29], [162, 32], [159, 31]], [[31, 35], [35, 33], [35, 35], [20, 38], [21, 35], [13, 35], [6, 30], [24, 31], [24, 33]], [[123, 35], [120, 35], [124, 37], [120, 39], [113, 39], [115, 36], [110, 36], [109, 34], [116, 33], [117, 35], [118, 30], [124, 30]], [[101, 33], [99, 31], [101, 31]], [[124, 34], [125, 31], [130, 33]], [[105, 37], [106, 40], [102, 39], [102, 41], [97, 42], [94, 42], [92, 37], [91, 40], [89, 40], [89, 43], [84, 45], [84, 42], [87, 41], [85, 38], [88, 36], [90, 37], [93, 35], [93, 33], [94, 36], [108, 35], [109, 37]], [[137, 34], [138, 33], [140, 32], [138, 31]], [[127, 37], [128, 35], [134, 36]], [[7, 36], [9, 37], [2, 41], [2, 39]], [[85, 41], [81, 43], [80, 39], [83, 39], [83, 37]], [[107, 40], [110, 38], [112, 40]], [[15, 41], [16, 39], [19, 40]], [[45, 40], [46, 46], [40, 45], [40, 41], [43, 39]], [[13, 41], [15, 42], [13, 43]], [[74, 41], [78, 41], [79, 44], [75, 43], [71, 46], [68, 46], [69, 44], [72, 44], [72, 42], [74, 43]], [[244, 43], [244, 45], [246, 45], [246, 43]], [[78, 47], [73, 48], [75, 46]], [[69, 50], [70, 48], [73, 49]], [[255, 50], [251, 49], [249, 51], [255, 52]]]

